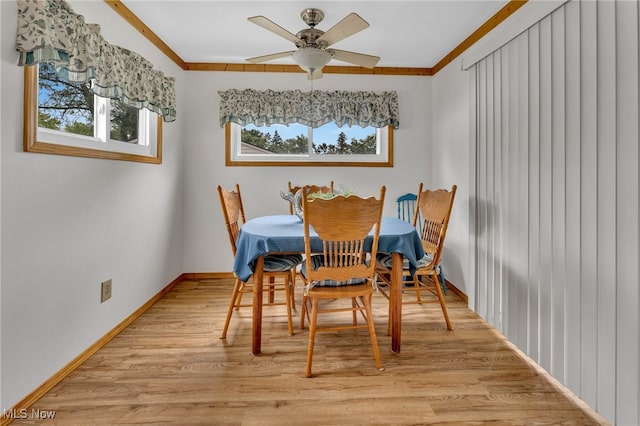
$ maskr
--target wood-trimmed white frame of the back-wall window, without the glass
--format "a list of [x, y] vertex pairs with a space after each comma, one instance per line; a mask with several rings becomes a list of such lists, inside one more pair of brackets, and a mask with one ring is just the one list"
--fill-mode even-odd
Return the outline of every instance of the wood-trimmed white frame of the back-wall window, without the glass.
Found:
[[[312, 129], [309, 128], [309, 133]], [[242, 154], [242, 126], [226, 123], [227, 166], [333, 166], [333, 167], [393, 167], [393, 126], [377, 129], [378, 152], [376, 154], [313, 154], [309, 137], [310, 154]]]

